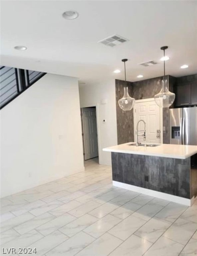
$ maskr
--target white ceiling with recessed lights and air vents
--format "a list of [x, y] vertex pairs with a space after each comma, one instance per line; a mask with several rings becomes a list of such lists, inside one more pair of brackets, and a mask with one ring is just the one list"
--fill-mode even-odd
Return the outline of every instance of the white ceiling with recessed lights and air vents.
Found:
[[[79, 12], [65, 20], [67, 10]], [[197, 72], [197, 1], [1, 1], [1, 65], [79, 77], [143, 79]], [[115, 47], [97, 43], [113, 34], [129, 39]], [[14, 46], [25, 45], [26, 51]], [[139, 66], [155, 60], [157, 65]], [[188, 69], [180, 69], [188, 64]], [[122, 72], [114, 74], [114, 69]]]

